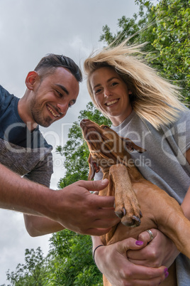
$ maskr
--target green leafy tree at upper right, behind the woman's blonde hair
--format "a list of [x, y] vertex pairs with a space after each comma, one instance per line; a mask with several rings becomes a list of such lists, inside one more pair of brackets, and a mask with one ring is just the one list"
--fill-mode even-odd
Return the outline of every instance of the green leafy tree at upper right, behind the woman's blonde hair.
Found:
[[190, 1], [162, 0], [156, 6], [146, 0], [135, 2], [140, 6], [138, 14], [119, 19], [116, 34], [104, 26], [100, 41], [116, 45], [131, 37], [129, 44], [147, 42], [147, 62], [181, 86], [184, 100], [190, 102]]

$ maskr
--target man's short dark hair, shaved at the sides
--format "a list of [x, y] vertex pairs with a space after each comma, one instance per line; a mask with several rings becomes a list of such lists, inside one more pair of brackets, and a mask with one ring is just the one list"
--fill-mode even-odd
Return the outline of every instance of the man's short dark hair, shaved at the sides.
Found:
[[82, 72], [78, 65], [65, 55], [55, 55], [54, 53], [45, 55], [35, 67], [35, 71], [39, 71], [42, 78], [44, 78], [45, 75], [53, 73], [55, 68], [58, 67], [67, 68], [79, 83], [82, 82]]

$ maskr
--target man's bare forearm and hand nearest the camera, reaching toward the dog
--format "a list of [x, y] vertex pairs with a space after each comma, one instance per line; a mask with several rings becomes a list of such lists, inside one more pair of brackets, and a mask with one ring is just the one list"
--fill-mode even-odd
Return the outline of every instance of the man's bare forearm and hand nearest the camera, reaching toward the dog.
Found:
[[0, 181], [1, 208], [45, 216], [64, 228], [89, 235], [103, 235], [118, 223], [113, 209], [114, 198], [89, 192], [104, 189], [107, 180], [78, 181], [53, 191], [21, 178], [0, 164]]

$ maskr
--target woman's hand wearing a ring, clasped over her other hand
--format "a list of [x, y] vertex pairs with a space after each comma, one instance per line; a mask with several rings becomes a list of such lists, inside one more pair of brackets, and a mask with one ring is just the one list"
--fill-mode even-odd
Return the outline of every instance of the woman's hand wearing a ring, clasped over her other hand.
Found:
[[[155, 228], [152, 228], [151, 231], [154, 237], [152, 241], [150, 241], [147, 231], [140, 233], [138, 240], [142, 240], [146, 246], [140, 250], [128, 250], [128, 260], [137, 265], [150, 267], [165, 265], [169, 268], [179, 255], [179, 251], [173, 241], [161, 231]], [[149, 241], [150, 243], [148, 243]]]

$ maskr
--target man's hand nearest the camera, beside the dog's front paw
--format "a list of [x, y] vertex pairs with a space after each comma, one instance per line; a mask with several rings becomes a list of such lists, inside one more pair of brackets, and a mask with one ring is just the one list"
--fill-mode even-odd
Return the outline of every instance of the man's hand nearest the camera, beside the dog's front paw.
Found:
[[54, 191], [50, 211], [55, 221], [71, 231], [89, 235], [104, 235], [120, 219], [114, 213], [113, 196], [97, 196], [108, 185], [103, 181], [77, 181], [60, 191]]

